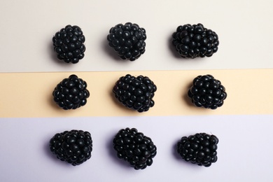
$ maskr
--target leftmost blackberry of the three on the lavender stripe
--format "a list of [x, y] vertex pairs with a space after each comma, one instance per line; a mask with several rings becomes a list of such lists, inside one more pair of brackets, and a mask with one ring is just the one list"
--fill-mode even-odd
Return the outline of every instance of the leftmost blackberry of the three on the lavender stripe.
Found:
[[57, 133], [50, 139], [50, 151], [59, 160], [76, 166], [91, 158], [92, 137], [90, 132], [71, 130]]

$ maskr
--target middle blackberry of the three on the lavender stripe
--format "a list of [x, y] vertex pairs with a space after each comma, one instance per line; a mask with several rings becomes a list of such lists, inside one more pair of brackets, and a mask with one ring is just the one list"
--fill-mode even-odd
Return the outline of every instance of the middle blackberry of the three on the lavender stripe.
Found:
[[122, 129], [113, 139], [113, 148], [118, 158], [130, 163], [134, 169], [145, 169], [153, 164], [157, 148], [151, 138], [135, 128]]

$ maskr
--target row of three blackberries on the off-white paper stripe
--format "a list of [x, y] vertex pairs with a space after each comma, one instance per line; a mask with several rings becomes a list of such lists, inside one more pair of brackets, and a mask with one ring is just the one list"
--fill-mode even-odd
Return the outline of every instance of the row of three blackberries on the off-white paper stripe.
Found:
[[[145, 52], [146, 30], [131, 22], [111, 27], [107, 40], [121, 59], [134, 61]], [[83, 59], [85, 36], [80, 27], [67, 25], [52, 38], [57, 58], [76, 64]], [[181, 57], [211, 57], [218, 50], [218, 35], [202, 24], [181, 25], [172, 34], [172, 43]]]

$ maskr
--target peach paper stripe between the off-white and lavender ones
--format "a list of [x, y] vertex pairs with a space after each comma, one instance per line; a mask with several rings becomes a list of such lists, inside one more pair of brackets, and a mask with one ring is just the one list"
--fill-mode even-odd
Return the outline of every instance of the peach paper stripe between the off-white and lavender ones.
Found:
[[[72, 72], [0, 73], [1, 118], [43, 118], [80, 116], [188, 116], [251, 115], [273, 113], [273, 69], [196, 71], [111, 71], [73, 72], [87, 82], [90, 97], [76, 110], [59, 109], [52, 90]], [[148, 76], [157, 85], [155, 106], [146, 113], [131, 111], [113, 97], [112, 88], [120, 76]], [[228, 93], [221, 108], [197, 108], [186, 97], [198, 75], [211, 74], [221, 80]]]

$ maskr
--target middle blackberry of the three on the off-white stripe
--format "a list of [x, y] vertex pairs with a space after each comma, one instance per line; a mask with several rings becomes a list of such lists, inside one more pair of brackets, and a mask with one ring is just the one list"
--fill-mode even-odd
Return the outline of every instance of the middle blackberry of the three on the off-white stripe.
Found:
[[112, 27], [107, 36], [109, 45], [121, 59], [134, 61], [145, 52], [146, 31], [137, 24], [131, 22], [118, 24]]

